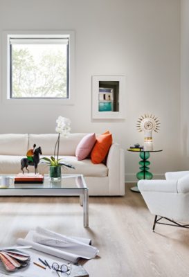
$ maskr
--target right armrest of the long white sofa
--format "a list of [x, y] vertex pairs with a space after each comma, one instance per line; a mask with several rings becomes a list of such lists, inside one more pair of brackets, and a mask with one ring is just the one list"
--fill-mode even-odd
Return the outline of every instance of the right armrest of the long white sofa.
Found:
[[113, 143], [107, 156], [110, 195], [125, 195], [125, 157], [118, 143]]

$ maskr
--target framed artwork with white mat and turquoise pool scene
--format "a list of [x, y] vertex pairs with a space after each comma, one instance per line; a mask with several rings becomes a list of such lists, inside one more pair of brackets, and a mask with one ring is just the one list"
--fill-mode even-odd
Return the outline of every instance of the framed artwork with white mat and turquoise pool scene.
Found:
[[93, 75], [92, 93], [94, 119], [125, 118], [125, 76]]

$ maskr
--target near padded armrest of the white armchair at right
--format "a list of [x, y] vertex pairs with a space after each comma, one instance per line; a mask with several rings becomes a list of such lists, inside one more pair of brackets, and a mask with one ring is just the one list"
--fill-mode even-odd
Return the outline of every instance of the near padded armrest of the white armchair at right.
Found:
[[141, 193], [177, 193], [177, 180], [140, 180], [138, 189]]

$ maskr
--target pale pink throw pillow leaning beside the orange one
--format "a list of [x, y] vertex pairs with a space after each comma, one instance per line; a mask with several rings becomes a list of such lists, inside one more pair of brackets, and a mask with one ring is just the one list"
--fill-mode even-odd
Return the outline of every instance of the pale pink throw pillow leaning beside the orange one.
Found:
[[81, 161], [87, 158], [93, 148], [93, 145], [96, 143], [95, 133], [87, 134], [82, 138], [75, 150], [75, 156], [78, 161]]

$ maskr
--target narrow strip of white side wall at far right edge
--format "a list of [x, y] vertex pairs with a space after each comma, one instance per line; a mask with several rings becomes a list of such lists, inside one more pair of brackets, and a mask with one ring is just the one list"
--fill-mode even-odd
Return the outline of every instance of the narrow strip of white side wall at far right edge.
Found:
[[189, 169], [189, 1], [181, 1], [181, 161]]

